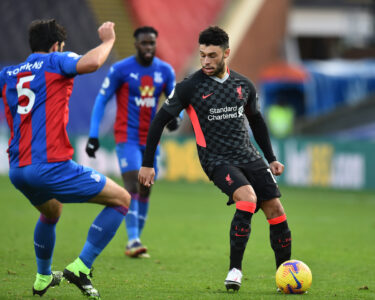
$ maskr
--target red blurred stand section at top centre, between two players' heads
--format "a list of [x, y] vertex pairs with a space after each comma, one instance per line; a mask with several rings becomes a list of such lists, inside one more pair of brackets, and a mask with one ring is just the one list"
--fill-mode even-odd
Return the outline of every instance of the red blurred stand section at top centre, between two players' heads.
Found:
[[[169, 62], [176, 74], [186, 70], [198, 47], [201, 30], [215, 24], [228, 0], [127, 0], [136, 24], [159, 31], [157, 55]], [[184, 75], [184, 74], [183, 74]]]

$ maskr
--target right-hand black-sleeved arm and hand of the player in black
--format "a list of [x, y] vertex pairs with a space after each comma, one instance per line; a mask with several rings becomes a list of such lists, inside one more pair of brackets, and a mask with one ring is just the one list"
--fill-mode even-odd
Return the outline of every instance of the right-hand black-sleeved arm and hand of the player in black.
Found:
[[249, 99], [245, 106], [245, 114], [249, 121], [251, 131], [253, 132], [254, 139], [262, 150], [264, 157], [267, 159], [272, 174], [281, 175], [284, 171], [284, 165], [276, 160], [276, 156], [273, 153], [270, 135], [266, 122], [259, 111], [255, 90], [252, 93], [252, 98]]

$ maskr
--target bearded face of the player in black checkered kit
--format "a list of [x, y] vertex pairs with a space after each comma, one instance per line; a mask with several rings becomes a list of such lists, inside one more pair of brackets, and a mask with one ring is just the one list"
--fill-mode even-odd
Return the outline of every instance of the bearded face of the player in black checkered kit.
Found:
[[223, 49], [220, 46], [200, 45], [200, 61], [203, 72], [208, 76], [222, 78], [226, 72], [225, 59], [229, 56], [229, 48]]

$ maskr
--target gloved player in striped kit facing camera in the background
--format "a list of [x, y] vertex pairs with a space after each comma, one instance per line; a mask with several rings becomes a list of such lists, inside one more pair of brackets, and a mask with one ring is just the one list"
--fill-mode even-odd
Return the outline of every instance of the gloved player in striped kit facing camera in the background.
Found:
[[[128, 243], [125, 254], [129, 257], [149, 257], [147, 247], [140, 240], [147, 218], [150, 188], [138, 183], [148, 129], [153, 120], [162, 93], [168, 96], [175, 85], [173, 68], [155, 57], [158, 32], [149, 26], [134, 31], [136, 55], [115, 63], [95, 100], [86, 152], [95, 157], [99, 148], [99, 124], [105, 106], [116, 95], [117, 113], [114, 124], [116, 152], [125, 188], [132, 200], [125, 218]], [[175, 130], [181, 116], [167, 125]], [[154, 156], [154, 165], [159, 150]], [[157, 173], [157, 169], [156, 169]]]

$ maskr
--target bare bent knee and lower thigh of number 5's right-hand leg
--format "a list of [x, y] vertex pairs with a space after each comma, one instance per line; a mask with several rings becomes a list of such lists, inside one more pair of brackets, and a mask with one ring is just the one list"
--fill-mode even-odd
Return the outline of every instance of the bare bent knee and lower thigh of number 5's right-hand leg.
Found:
[[106, 178], [106, 183], [101, 192], [88, 202], [102, 204], [106, 206], [129, 207], [130, 194], [111, 178]]

